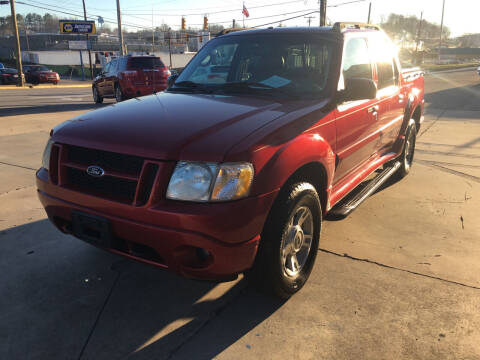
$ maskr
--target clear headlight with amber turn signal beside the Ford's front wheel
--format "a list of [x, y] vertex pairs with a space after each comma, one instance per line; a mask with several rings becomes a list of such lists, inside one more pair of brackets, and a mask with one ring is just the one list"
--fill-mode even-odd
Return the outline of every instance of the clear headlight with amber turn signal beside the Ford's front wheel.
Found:
[[249, 163], [180, 161], [170, 179], [167, 198], [184, 201], [227, 201], [248, 196], [253, 181]]

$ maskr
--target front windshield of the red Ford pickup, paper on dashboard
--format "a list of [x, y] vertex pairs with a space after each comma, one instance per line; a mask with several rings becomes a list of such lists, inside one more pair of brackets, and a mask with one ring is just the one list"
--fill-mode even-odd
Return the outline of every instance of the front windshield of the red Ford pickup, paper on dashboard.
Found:
[[327, 84], [331, 49], [328, 40], [310, 34], [218, 38], [170, 90], [318, 95]]

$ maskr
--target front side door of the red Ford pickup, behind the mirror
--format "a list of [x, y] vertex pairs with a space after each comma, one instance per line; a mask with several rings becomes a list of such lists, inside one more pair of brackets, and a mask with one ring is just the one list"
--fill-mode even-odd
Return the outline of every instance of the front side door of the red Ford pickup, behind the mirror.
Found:
[[[349, 78], [373, 80], [373, 66], [364, 37], [353, 36], [345, 40], [339, 90], [344, 89], [344, 82]], [[334, 182], [352, 174], [376, 154], [376, 106], [376, 99], [348, 101], [337, 106], [338, 164]]]

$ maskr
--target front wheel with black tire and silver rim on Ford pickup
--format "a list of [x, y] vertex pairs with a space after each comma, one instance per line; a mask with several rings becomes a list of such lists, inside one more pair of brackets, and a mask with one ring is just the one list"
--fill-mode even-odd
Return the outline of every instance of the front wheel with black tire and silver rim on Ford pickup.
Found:
[[[288, 255], [285, 257], [286, 246], [290, 245], [290, 249], [296, 251], [297, 234], [292, 233], [296, 231], [294, 230], [296, 227], [292, 228], [292, 225], [297, 213], [305, 211], [303, 209], [306, 208], [309, 209], [312, 217], [311, 231], [309, 231], [311, 234], [302, 231], [301, 235], [298, 235], [302, 237], [298, 248], [304, 249], [304, 246], [306, 248], [307, 236], [311, 236], [311, 241], [308, 252], [302, 256], [303, 260], [298, 257], [303, 264], [297, 261], [298, 273], [293, 274], [294, 271], [291, 269], [289, 271], [288, 263], [293, 265], [294, 261], [291, 258], [289, 261]], [[302, 223], [305, 222], [307, 220], [304, 219]], [[317, 257], [321, 224], [322, 208], [313, 185], [306, 182], [287, 185], [278, 195], [267, 218], [254, 266], [245, 274], [248, 281], [258, 290], [282, 299], [288, 299], [299, 291], [310, 276]], [[300, 251], [302, 250], [297, 254], [300, 254]]]

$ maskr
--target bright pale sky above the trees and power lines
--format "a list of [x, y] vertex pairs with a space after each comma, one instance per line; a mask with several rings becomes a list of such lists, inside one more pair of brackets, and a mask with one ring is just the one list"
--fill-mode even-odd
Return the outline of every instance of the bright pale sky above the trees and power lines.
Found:
[[[27, 14], [37, 12], [55, 13], [60, 18], [72, 18], [72, 15], [62, 14], [61, 11], [82, 13], [81, 0], [17, 0], [17, 13]], [[390, 13], [416, 15], [424, 12], [424, 19], [440, 23], [443, 0], [365, 0], [356, 3], [344, 4], [354, 0], [328, 0], [327, 17], [330, 21], [362, 21], [368, 17], [369, 3], [372, 3], [372, 22], [378, 23], [382, 17]], [[85, 0], [87, 15], [92, 19], [102, 16], [109, 26], [116, 27], [116, 0]], [[225, 27], [236, 19], [242, 24], [241, 0], [121, 0], [122, 22], [129, 31], [151, 28], [163, 23], [172, 29], [179, 29], [182, 15], [185, 15], [187, 27], [200, 28], [203, 16], [208, 15], [209, 23], [221, 23]], [[35, 5], [32, 7], [26, 4]], [[272, 23], [277, 26], [282, 21], [286, 26], [307, 26], [305, 16], [314, 16], [312, 26], [318, 25], [318, 13], [304, 15], [310, 11], [317, 11], [318, 0], [245, 0], [246, 8], [250, 13], [245, 18], [246, 26], [258, 26]], [[480, 33], [478, 17], [480, 14], [479, 0], [445, 0], [444, 23], [453, 36], [464, 33]], [[274, 5], [276, 4], [276, 5]], [[343, 5], [342, 5], [343, 4]], [[38, 7], [48, 8], [41, 9]], [[152, 17], [153, 12], [153, 17]], [[0, 16], [10, 14], [8, 5], [0, 6]], [[287, 18], [297, 17], [291, 20]]]

